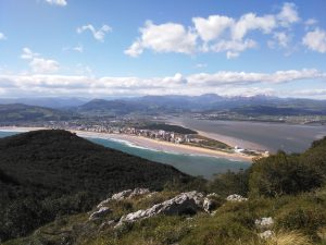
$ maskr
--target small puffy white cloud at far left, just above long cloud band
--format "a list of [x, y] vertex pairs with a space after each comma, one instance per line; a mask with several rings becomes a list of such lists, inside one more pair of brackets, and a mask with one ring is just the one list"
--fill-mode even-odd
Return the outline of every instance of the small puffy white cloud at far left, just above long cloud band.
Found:
[[39, 53], [33, 52], [29, 48], [23, 48], [21, 58], [29, 61], [28, 64], [34, 73], [53, 73], [60, 68], [57, 61], [43, 59]]

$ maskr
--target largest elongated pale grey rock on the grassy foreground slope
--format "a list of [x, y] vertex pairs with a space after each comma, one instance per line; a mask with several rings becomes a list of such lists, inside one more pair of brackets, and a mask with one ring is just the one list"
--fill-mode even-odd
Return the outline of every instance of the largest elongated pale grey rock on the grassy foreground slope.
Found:
[[198, 192], [181, 193], [176, 197], [165, 200], [161, 204], [156, 204], [153, 207], [146, 210], [138, 210], [123, 216], [116, 226], [125, 222], [135, 222], [140, 219], [147, 219], [160, 213], [167, 216], [183, 215], [183, 213], [196, 213], [199, 209], [202, 209], [203, 195]]

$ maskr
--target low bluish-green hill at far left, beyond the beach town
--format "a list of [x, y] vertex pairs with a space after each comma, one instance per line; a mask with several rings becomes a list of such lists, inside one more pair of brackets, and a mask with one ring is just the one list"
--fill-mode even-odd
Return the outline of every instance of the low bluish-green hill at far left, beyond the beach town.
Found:
[[23, 103], [0, 105], [0, 122], [59, 121], [76, 118], [75, 114], [55, 109], [26, 106]]

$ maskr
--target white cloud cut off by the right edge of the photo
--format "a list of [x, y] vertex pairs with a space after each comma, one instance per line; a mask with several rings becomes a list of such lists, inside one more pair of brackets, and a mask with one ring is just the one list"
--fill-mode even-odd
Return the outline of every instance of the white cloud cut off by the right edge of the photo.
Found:
[[308, 32], [302, 38], [302, 44], [309, 49], [317, 52], [326, 52], [326, 32], [316, 28], [315, 30]]

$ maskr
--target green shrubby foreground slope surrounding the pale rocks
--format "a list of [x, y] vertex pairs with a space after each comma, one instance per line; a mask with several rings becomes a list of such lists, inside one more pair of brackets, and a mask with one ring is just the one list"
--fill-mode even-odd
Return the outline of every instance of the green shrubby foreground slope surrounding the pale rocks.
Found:
[[[211, 213], [158, 215], [121, 226], [102, 225], [120, 217], [147, 209], [180, 192], [215, 193]], [[247, 201], [227, 201], [229, 194], [247, 196]], [[74, 203], [74, 201], [73, 201]], [[277, 152], [258, 159], [251, 168], [227, 172], [213, 181], [174, 179], [151, 196], [109, 203], [112, 212], [89, 220], [90, 212], [57, 216], [17, 244], [87, 245], [310, 245], [326, 244], [326, 138], [313, 143], [301, 155]], [[255, 220], [272, 217], [273, 235], [260, 237]]]

